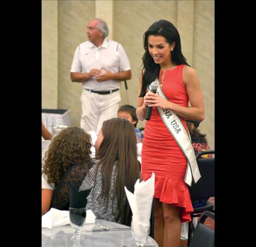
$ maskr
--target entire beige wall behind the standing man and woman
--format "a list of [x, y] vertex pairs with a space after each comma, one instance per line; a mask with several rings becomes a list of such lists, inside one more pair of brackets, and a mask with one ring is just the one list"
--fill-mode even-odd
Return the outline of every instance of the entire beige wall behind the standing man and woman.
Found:
[[[86, 25], [93, 17], [104, 18], [110, 36], [120, 42], [132, 67], [128, 81], [129, 103], [136, 107], [139, 73], [144, 53], [142, 37], [159, 19], [171, 21], [181, 36], [182, 52], [197, 71], [205, 99], [207, 133], [214, 149], [214, 1], [42, 1], [42, 107], [71, 109], [73, 126], [79, 126], [81, 84], [70, 81], [76, 46], [87, 40]], [[122, 102], [128, 103], [124, 83]], [[139, 122], [138, 127], [145, 125]]]

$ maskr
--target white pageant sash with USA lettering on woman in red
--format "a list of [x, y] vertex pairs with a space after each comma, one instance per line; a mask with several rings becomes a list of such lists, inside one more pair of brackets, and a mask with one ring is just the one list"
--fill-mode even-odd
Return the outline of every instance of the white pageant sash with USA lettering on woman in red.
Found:
[[[156, 79], [156, 81], [158, 83], [158, 89], [156, 94], [162, 96], [163, 98], [165, 98], [165, 100], [168, 100], [168, 98], [166, 98], [162, 89], [159, 86], [158, 78]], [[148, 87], [148, 89], [151, 89], [151, 85], [150, 87]], [[171, 110], [168, 109], [162, 109], [159, 107], [156, 108], [166, 128], [169, 130], [172, 137], [175, 139], [176, 143], [183, 152], [184, 156], [187, 158], [187, 170], [184, 181], [189, 186], [192, 186], [192, 182], [197, 183], [201, 175], [198, 169], [197, 160], [195, 159], [195, 153], [191, 143], [190, 135], [187, 133], [181, 120], [175, 113], [171, 112]]]

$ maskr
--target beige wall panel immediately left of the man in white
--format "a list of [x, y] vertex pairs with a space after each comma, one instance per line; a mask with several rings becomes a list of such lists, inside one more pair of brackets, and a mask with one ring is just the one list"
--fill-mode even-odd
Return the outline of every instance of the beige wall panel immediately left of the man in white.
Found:
[[80, 127], [82, 87], [70, 81], [76, 47], [87, 40], [87, 23], [95, 16], [95, 1], [58, 1], [58, 108], [71, 109], [73, 126]]

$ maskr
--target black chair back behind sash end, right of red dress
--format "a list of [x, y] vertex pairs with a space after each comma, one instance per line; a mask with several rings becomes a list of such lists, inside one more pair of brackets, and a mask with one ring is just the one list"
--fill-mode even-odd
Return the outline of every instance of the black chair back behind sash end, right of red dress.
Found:
[[200, 158], [203, 155], [214, 153], [215, 150], [203, 151], [197, 156], [201, 177], [197, 183], [191, 187], [188, 186], [191, 200], [215, 196], [215, 158]]

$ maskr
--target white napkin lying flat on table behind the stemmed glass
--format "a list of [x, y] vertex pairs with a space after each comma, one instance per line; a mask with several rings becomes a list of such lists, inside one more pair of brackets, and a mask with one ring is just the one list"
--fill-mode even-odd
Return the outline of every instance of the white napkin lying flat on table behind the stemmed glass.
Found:
[[[96, 216], [91, 210], [86, 210], [85, 224], [95, 223]], [[42, 216], [42, 227], [52, 229], [55, 226], [64, 226], [70, 224], [69, 211], [51, 208]]]

